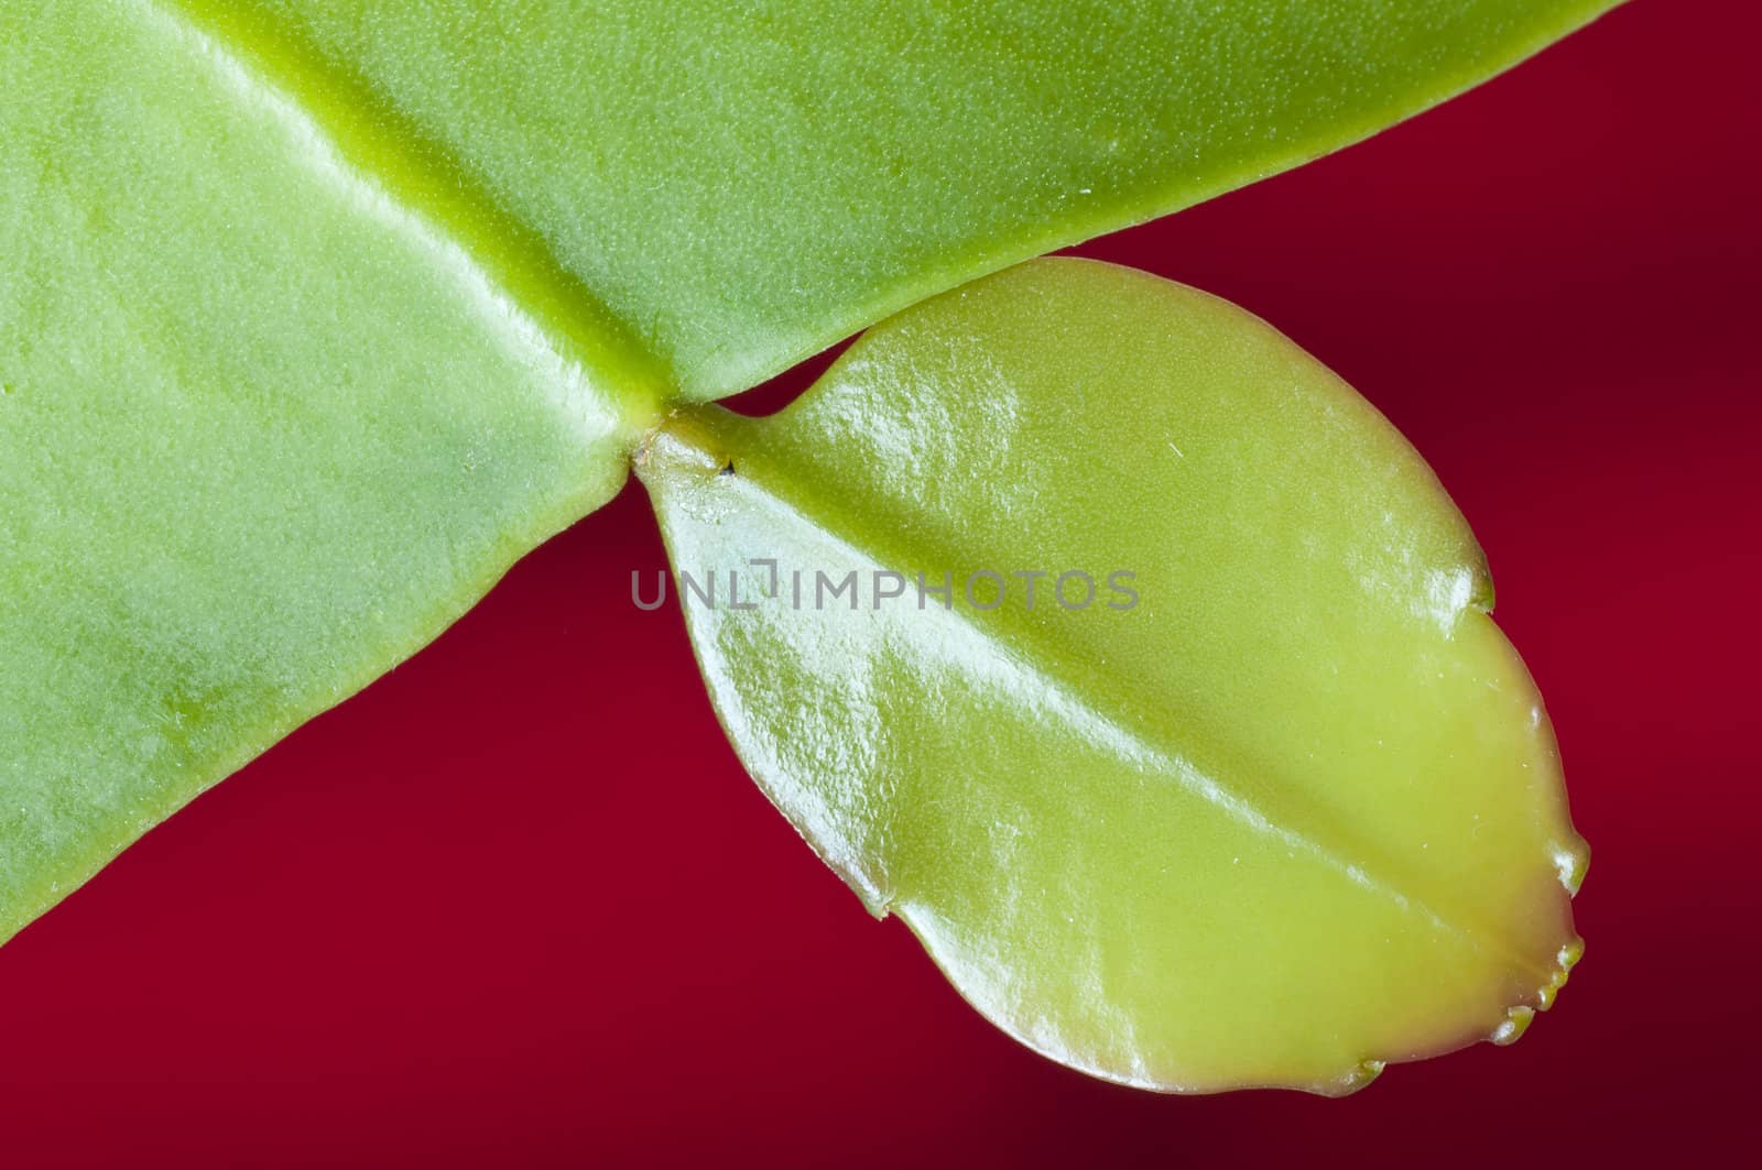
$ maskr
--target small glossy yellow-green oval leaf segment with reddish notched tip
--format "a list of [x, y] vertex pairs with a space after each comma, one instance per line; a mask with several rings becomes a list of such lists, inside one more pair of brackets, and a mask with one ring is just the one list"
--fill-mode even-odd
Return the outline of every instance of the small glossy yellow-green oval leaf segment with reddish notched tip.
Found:
[[747, 768], [1040, 1052], [1337, 1092], [1565, 981], [1586, 851], [1480, 548], [1258, 319], [1038, 261], [638, 474]]

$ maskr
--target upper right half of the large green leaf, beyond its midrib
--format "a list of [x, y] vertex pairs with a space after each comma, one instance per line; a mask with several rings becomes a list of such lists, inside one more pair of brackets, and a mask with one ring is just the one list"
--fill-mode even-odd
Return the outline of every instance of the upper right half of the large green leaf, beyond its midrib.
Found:
[[159, 2], [402, 127], [694, 400], [1344, 146], [1614, 7]]

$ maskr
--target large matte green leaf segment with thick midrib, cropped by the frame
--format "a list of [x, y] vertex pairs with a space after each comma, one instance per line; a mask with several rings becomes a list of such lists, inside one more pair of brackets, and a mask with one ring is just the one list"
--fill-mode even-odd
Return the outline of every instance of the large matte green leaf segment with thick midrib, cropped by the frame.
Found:
[[1605, 7], [0, 0], [0, 937], [608, 499], [659, 402]]

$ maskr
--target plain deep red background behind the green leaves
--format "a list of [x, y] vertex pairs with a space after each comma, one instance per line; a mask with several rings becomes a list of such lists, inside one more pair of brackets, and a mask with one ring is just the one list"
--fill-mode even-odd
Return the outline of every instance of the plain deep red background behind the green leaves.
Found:
[[1586, 960], [1519, 1045], [1344, 1101], [1159, 1098], [1017, 1047], [747, 781], [678, 611], [629, 606], [663, 564], [633, 488], [0, 950], [0, 1163], [1484, 1166], [1741, 1140], [1751, 12], [1639, 0], [1369, 144], [1082, 248], [1286, 330], [1475, 523], [1595, 853]]

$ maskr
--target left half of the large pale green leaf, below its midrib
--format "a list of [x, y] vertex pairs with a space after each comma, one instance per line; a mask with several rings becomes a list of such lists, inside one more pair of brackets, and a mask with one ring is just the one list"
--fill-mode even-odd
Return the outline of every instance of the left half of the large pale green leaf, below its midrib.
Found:
[[0, 939], [626, 478], [626, 407], [139, 4], [0, 39]]

